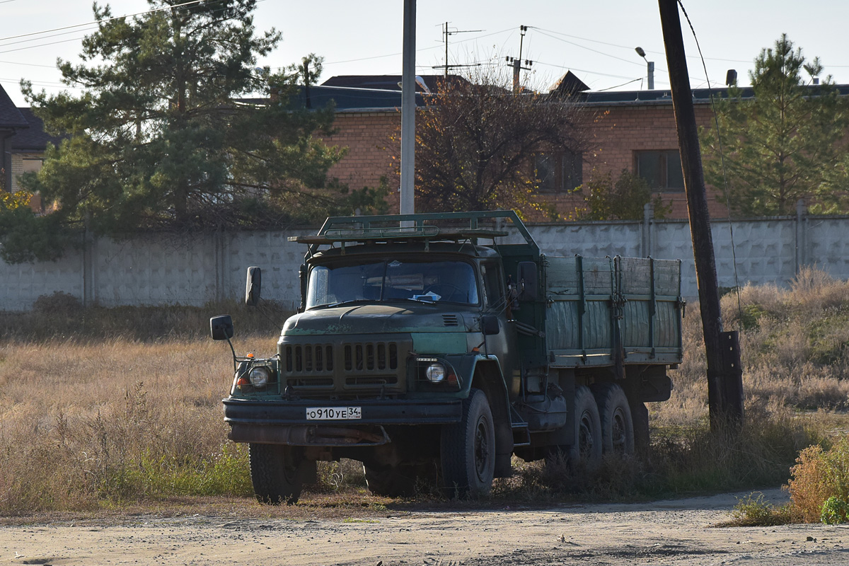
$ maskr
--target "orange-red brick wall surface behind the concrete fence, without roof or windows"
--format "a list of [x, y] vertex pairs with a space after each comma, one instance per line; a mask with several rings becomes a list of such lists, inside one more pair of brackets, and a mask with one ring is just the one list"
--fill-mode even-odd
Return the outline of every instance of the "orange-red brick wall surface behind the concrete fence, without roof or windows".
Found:
[[[709, 126], [711, 111], [707, 105], [695, 107], [700, 126]], [[583, 180], [588, 182], [593, 170], [610, 171], [614, 178], [622, 169], [635, 171], [634, 151], [678, 149], [678, 134], [672, 101], [668, 104], [634, 104], [610, 107], [589, 107], [585, 110], [589, 149], [584, 154]], [[329, 171], [329, 177], [346, 182], [351, 188], [376, 187], [380, 177], [389, 180], [391, 210], [397, 212], [399, 185], [401, 112], [344, 112], [336, 115], [338, 132], [325, 138], [331, 145], [347, 147], [348, 154]], [[394, 138], [394, 139], [393, 139]], [[687, 200], [683, 192], [659, 193], [664, 203], [672, 204], [669, 218], [687, 217]], [[581, 199], [569, 194], [542, 195], [543, 202], [554, 205], [559, 214], [568, 217], [581, 204]], [[717, 191], [708, 188], [711, 216], [727, 216], [726, 208], [717, 200]], [[542, 216], [532, 220], [547, 220]]]

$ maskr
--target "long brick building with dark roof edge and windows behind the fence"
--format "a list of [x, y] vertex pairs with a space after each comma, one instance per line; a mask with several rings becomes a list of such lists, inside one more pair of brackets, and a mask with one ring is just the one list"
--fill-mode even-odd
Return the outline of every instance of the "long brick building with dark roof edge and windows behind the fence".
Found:
[[[368, 83], [380, 89], [351, 86], [357, 84], [353, 78], [334, 77], [322, 86], [311, 87], [313, 104], [335, 100], [337, 132], [325, 141], [348, 148], [346, 157], [330, 170], [329, 176], [348, 183], [351, 188], [377, 186], [380, 177], [385, 176], [390, 187], [396, 189], [401, 92], [395, 85], [400, 76]], [[367, 81], [371, 77], [361, 78]], [[424, 79], [430, 80], [431, 77]], [[333, 86], [337, 84], [346, 86]], [[717, 92], [722, 91], [713, 91]], [[424, 104], [423, 92], [417, 94], [417, 104]], [[695, 90], [693, 94], [696, 120], [700, 126], [710, 126], [710, 92]], [[582, 155], [554, 154], [547, 156], [548, 162], [537, 160], [537, 171], [550, 173], [548, 176], [543, 173], [548, 178], [541, 179], [543, 200], [556, 205], [561, 214], [568, 214], [580, 202], [572, 189], [588, 182], [596, 171], [610, 172], [616, 178], [625, 169], [644, 177], [656, 189], [655, 194], [665, 204], [672, 205], [670, 218], [686, 218], [687, 202], [670, 92], [584, 92], [580, 101], [588, 128], [588, 149]], [[575, 171], [568, 172], [570, 167]], [[392, 205], [396, 206], [396, 193], [393, 197]], [[708, 202], [711, 216], [726, 216], [721, 194], [710, 187]]]

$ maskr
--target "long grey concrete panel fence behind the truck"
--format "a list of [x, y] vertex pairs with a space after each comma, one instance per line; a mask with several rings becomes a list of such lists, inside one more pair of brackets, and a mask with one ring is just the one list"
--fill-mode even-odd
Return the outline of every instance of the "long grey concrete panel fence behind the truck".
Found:
[[[698, 294], [687, 221], [655, 220], [647, 209], [643, 221], [529, 228], [547, 255], [680, 259], [683, 295]], [[833, 277], [849, 278], [849, 216], [807, 216], [800, 207], [790, 217], [714, 220], [711, 230], [722, 287], [785, 285], [802, 266], [818, 266]], [[262, 268], [264, 297], [296, 305], [305, 246], [288, 238], [314, 232], [225, 232], [179, 239], [145, 234], [118, 242], [87, 238], [85, 245], [69, 247], [59, 261], [20, 265], [0, 261], [0, 310], [28, 310], [39, 296], [55, 291], [72, 294], [84, 305], [200, 306], [244, 296], [248, 266]]]

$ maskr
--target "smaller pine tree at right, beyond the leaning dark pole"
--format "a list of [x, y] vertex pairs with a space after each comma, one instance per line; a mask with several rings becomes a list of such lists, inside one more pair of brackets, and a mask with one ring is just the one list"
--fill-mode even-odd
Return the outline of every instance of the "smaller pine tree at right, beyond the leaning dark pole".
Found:
[[715, 101], [721, 136], [713, 126], [700, 132], [705, 178], [722, 190], [735, 213], [787, 215], [798, 199], [808, 199], [812, 210], [829, 201], [829, 179], [845, 153], [841, 140], [849, 115], [830, 76], [808, 86], [802, 75], [822, 70], [818, 58], [807, 63], [801, 48], [782, 35], [755, 59], [751, 98], [731, 87], [728, 98]]

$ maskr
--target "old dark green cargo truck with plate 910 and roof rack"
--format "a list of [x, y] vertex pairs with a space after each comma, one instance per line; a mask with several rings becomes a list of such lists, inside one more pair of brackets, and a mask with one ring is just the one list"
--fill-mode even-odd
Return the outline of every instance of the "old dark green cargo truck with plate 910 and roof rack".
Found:
[[[592, 469], [648, 442], [645, 403], [682, 356], [680, 261], [543, 255], [513, 211], [335, 217], [294, 239], [298, 313], [274, 356], [233, 350], [223, 401], [261, 502], [295, 502], [317, 461], [363, 462], [379, 495], [467, 497], [513, 455]], [[260, 290], [250, 267], [248, 305]], [[231, 317], [211, 333], [229, 343]]]

